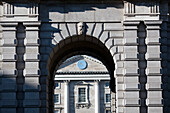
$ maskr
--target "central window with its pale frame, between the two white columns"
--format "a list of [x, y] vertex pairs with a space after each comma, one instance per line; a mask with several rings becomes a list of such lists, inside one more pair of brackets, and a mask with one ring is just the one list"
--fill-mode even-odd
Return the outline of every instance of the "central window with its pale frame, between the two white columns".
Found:
[[78, 102], [83, 103], [87, 102], [87, 89], [78, 88]]

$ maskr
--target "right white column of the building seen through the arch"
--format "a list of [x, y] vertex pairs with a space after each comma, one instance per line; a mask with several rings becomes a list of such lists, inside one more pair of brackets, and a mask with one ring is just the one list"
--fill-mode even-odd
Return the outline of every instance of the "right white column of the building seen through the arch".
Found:
[[95, 113], [100, 113], [99, 81], [95, 81]]

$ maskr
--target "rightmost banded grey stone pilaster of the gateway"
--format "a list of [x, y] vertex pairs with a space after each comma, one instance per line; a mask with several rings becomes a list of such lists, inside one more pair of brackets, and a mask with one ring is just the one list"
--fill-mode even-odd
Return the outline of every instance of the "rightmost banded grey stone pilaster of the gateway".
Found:
[[162, 66], [161, 66], [161, 21], [145, 21], [147, 25], [147, 100], [148, 113], [163, 113]]

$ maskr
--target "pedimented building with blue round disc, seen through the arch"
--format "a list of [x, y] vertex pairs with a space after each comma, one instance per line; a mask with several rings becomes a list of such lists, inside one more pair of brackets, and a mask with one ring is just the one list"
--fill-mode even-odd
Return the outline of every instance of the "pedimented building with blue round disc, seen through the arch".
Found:
[[[54, 113], [111, 113], [110, 75], [104, 64], [87, 55], [64, 61], [56, 71]], [[112, 93], [112, 101], [115, 100]], [[115, 109], [112, 109], [112, 113]]]

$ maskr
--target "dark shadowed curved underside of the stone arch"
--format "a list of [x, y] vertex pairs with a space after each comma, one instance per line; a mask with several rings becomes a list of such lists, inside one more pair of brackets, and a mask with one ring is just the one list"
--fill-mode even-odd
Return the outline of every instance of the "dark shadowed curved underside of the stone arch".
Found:
[[[68, 37], [53, 48], [48, 60], [49, 71], [49, 100], [53, 102], [53, 87], [55, 70], [67, 58], [78, 55], [86, 54], [99, 59], [108, 69], [111, 78], [111, 90], [115, 92], [115, 63], [110, 50], [100, 40], [92, 36], [72, 36]], [[52, 112], [53, 103], [50, 104], [50, 111]]]

